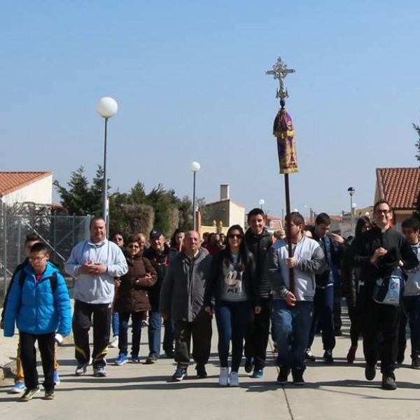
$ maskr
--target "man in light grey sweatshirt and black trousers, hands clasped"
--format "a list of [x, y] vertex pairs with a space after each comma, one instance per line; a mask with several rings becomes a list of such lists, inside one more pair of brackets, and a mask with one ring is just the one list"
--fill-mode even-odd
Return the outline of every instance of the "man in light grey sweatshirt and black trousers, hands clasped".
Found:
[[89, 364], [89, 330], [93, 316], [93, 374], [105, 377], [114, 278], [123, 276], [128, 267], [120, 247], [106, 239], [103, 218], [92, 219], [90, 240], [73, 248], [64, 268], [75, 279], [73, 338], [78, 361], [76, 375], [85, 374]]

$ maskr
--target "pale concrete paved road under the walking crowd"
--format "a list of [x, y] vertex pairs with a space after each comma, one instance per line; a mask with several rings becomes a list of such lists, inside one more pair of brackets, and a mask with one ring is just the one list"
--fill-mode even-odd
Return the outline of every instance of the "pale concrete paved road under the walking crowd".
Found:
[[[141, 358], [147, 356], [146, 330]], [[304, 379], [307, 385], [297, 387], [276, 384], [277, 370], [271, 343], [264, 379], [252, 379], [243, 369], [239, 372], [240, 388], [221, 388], [218, 381], [217, 334], [214, 334], [209, 377], [195, 379], [193, 367], [188, 379], [169, 381], [175, 365], [162, 358], [155, 365], [113, 366], [118, 349], [110, 349], [106, 378], [92, 376], [92, 367], [83, 377], [75, 377], [73, 346], [69, 339], [59, 347], [61, 384], [55, 401], [44, 401], [36, 395], [27, 403], [17, 403], [18, 396], [8, 393], [13, 379], [0, 381], [0, 419], [418, 419], [420, 411], [420, 371], [403, 365], [396, 370], [398, 389], [383, 391], [381, 375], [368, 382], [364, 377], [360, 347], [353, 365], [346, 363], [349, 347], [348, 324], [344, 335], [337, 337], [335, 363], [309, 363]], [[15, 357], [16, 340], [0, 337], [0, 360]], [[314, 353], [322, 356], [321, 338], [316, 337]], [[409, 352], [407, 352], [407, 355]], [[409, 360], [406, 362], [408, 363]], [[41, 367], [39, 367], [41, 372]]]

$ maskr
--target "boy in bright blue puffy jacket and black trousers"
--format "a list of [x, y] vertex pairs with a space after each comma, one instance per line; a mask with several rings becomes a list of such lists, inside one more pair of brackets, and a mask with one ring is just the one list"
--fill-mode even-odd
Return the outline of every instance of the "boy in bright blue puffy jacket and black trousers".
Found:
[[39, 391], [36, 340], [41, 353], [45, 400], [54, 399], [55, 332], [65, 337], [71, 329], [69, 291], [64, 277], [48, 262], [49, 258], [47, 245], [38, 242], [32, 246], [29, 265], [22, 268], [25, 276], [16, 273], [18, 280], [10, 289], [4, 314], [4, 336], [13, 337], [15, 323], [19, 330], [20, 357], [27, 386], [20, 398], [22, 401], [31, 400]]

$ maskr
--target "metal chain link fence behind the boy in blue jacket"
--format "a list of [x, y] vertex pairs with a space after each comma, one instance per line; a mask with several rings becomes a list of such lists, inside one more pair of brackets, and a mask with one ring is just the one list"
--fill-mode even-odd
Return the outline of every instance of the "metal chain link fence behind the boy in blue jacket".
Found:
[[[50, 261], [65, 276], [64, 262], [78, 242], [89, 237], [92, 216], [62, 216], [35, 204], [0, 207], [0, 307], [15, 267], [25, 260], [25, 239], [36, 234], [50, 246]], [[72, 280], [66, 279], [71, 287]]]

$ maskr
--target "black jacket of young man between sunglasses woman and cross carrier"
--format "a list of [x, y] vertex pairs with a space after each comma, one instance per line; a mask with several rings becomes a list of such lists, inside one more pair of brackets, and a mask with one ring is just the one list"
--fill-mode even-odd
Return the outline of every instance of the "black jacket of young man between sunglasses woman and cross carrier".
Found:
[[251, 229], [245, 233], [246, 246], [248, 251], [253, 254], [255, 259], [255, 276], [257, 279], [258, 295], [262, 299], [268, 299], [270, 285], [268, 279], [267, 254], [272, 246], [272, 237], [267, 229], [262, 230], [260, 235], [256, 235]]

